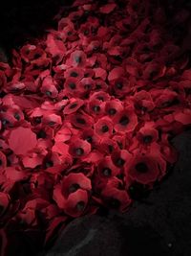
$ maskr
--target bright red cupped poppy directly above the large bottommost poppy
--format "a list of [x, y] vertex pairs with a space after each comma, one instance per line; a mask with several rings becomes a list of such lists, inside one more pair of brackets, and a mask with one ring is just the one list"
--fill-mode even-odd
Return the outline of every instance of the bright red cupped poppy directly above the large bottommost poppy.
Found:
[[84, 157], [91, 151], [91, 144], [85, 140], [75, 139], [72, 140], [69, 146], [69, 152], [76, 158]]

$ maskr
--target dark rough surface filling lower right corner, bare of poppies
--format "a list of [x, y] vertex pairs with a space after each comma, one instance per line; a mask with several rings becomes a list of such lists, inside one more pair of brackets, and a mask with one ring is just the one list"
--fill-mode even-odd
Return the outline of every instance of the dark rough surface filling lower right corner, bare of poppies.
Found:
[[129, 212], [71, 222], [46, 256], [190, 256], [191, 132], [174, 140], [173, 171]]

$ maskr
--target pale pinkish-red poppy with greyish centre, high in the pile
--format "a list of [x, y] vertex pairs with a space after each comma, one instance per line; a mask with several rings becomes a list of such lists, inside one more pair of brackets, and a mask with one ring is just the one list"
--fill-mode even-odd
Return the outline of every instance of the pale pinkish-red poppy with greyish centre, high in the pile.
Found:
[[76, 50], [71, 54], [71, 57], [67, 59], [66, 64], [74, 67], [83, 67], [86, 64], [86, 55], [84, 52]]

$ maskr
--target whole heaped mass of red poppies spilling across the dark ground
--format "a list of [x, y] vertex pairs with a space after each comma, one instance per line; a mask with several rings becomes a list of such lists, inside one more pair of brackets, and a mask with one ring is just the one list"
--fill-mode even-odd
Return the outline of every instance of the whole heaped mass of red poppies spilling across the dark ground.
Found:
[[0, 63], [1, 255], [12, 232], [39, 231], [46, 245], [99, 205], [126, 211], [132, 186], [152, 188], [176, 161], [169, 138], [191, 124], [191, 69], [151, 10], [76, 0]]

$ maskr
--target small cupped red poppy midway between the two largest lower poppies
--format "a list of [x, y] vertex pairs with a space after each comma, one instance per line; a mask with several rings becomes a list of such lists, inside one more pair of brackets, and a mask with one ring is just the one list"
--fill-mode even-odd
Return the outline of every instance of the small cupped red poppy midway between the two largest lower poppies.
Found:
[[119, 169], [114, 165], [111, 156], [106, 156], [98, 162], [97, 171], [100, 176], [107, 178], [119, 174]]

